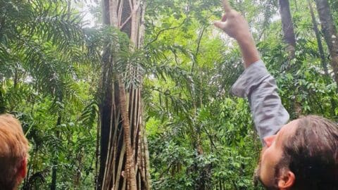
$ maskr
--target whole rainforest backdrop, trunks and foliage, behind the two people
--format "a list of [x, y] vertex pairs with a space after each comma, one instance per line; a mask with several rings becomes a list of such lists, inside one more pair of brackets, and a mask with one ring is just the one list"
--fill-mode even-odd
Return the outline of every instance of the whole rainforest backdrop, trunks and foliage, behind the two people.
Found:
[[[338, 1], [230, 4], [290, 120], [337, 122]], [[30, 142], [20, 189], [261, 189], [222, 15], [219, 0], [0, 0], [0, 113]]]

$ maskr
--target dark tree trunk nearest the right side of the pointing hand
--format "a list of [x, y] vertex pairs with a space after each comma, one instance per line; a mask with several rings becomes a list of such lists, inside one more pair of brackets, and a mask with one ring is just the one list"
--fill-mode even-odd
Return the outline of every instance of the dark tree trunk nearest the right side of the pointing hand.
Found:
[[284, 41], [287, 43], [289, 58], [292, 59], [296, 51], [296, 37], [294, 35], [294, 24], [292, 22], [289, 0], [280, 0], [280, 16], [282, 18]]

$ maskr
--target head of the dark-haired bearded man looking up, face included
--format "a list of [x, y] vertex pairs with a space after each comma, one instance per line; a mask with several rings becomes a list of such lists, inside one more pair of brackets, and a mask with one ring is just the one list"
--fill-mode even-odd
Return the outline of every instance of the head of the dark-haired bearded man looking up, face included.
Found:
[[266, 189], [337, 189], [338, 126], [315, 115], [266, 137], [256, 178]]

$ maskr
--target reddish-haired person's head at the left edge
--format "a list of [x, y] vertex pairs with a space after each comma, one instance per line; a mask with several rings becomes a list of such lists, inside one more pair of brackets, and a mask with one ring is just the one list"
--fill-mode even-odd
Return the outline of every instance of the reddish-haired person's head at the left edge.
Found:
[[25, 178], [28, 149], [20, 122], [0, 115], [0, 189], [13, 190]]

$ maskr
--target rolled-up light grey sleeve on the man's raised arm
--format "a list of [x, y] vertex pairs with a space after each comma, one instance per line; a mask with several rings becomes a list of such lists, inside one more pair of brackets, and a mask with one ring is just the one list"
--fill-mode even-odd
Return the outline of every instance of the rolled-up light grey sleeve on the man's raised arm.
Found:
[[277, 93], [277, 84], [263, 61], [252, 63], [232, 85], [234, 96], [249, 99], [253, 122], [261, 138], [276, 134], [289, 120]]

